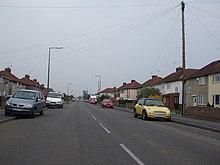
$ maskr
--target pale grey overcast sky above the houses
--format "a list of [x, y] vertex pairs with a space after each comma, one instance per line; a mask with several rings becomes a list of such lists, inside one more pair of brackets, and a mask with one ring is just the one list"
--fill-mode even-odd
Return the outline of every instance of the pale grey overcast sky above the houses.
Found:
[[[0, 70], [79, 96], [182, 65], [180, 0], [1, 0]], [[186, 0], [186, 67], [220, 59], [220, 1]]]

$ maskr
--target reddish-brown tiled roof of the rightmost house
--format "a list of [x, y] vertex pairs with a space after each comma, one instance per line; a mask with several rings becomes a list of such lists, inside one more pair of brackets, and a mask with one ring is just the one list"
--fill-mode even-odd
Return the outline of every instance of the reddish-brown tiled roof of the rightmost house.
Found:
[[211, 62], [208, 65], [204, 66], [203, 68], [199, 69], [196, 73], [191, 75], [189, 79], [201, 77], [201, 76], [207, 76], [215, 73], [220, 73], [220, 60]]

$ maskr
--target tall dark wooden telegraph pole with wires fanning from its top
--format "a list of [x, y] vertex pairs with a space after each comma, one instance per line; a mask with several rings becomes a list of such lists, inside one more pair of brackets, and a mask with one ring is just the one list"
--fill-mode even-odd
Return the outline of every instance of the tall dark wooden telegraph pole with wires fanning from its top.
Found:
[[181, 9], [182, 9], [182, 116], [184, 116], [185, 110], [185, 69], [186, 69], [186, 60], [185, 60], [185, 18], [184, 18], [184, 11], [185, 11], [185, 3], [181, 2]]

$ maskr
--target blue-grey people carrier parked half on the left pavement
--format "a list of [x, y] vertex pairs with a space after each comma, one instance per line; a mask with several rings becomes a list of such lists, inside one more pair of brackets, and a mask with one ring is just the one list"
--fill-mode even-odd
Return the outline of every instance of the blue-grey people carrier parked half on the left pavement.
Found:
[[36, 113], [44, 114], [46, 107], [42, 92], [35, 90], [18, 90], [6, 102], [5, 115], [28, 115], [32, 118]]

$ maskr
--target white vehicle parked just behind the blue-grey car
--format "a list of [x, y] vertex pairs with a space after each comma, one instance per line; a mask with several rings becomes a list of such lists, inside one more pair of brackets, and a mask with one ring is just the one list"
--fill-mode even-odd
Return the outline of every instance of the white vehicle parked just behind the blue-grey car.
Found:
[[47, 107], [63, 108], [64, 95], [60, 92], [49, 92], [46, 99]]

